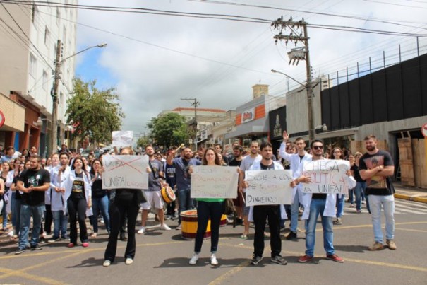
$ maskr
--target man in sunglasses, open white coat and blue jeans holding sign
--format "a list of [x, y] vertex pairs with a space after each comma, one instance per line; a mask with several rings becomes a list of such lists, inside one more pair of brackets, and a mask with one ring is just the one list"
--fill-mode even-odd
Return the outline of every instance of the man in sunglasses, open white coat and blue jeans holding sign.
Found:
[[[311, 153], [313, 157], [311, 161], [323, 160], [323, 141], [318, 139], [311, 142]], [[315, 226], [317, 224], [318, 216], [320, 215], [322, 219], [322, 228], [323, 228], [323, 247], [326, 251], [326, 257], [329, 260], [335, 262], [344, 262], [344, 259], [335, 254], [334, 249], [334, 232], [332, 231], [332, 218], [335, 217], [335, 202], [336, 202], [336, 193], [335, 190], [340, 189], [338, 185], [329, 185], [325, 182], [330, 180], [334, 181], [332, 177], [336, 180], [340, 180], [338, 176], [332, 176], [330, 173], [337, 172], [339, 174], [339, 168], [337, 166], [327, 165], [328, 160], [325, 160], [325, 163], [318, 163], [317, 166], [313, 167], [316, 170], [318, 169], [321, 172], [321, 178], [319, 175], [310, 175], [311, 173], [304, 172], [306, 170], [306, 165], [310, 162], [301, 165], [300, 173], [302, 175], [296, 180], [291, 182], [292, 186], [299, 185], [299, 183], [323, 183], [319, 187], [312, 187], [310, 192], [306, 192], [303, 197], [304, 203], [304, 212], [302, 219], [308, 220], [307, 229], [306, 229], [306, 255], [299, 257], [298, 262], [309, 262], [313, 260], [314, 257], [314, 244], [315, 244]], [[335, 164], [334, 164], [335, 165]], [[330, 167], [329, 173], [327, 166]], [[319, 169], [321, 168], [321, 169]], [[347, 175], [350, 175], [350, 170], [347, 170]], [[342, 175], [340, 175], [342, 177]], [[325, 181], [327, 180], [327, 181]], [[356, 185], [356, 180], [351, 180], [349, 178], [348, 183]], [[354, 187], [354, 185], [352, 187]], [[335, 186], [335, 187], [332, 187]], [[318, 190], [315, 192], [315, 190]]]

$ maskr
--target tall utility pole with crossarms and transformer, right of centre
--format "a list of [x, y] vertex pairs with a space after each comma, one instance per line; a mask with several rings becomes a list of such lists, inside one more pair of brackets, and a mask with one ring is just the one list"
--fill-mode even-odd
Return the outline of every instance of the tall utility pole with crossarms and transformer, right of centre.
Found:
[[[314, 126], [314, 111], [313, 111], [313, 86], [311, 82], [311, 64], [310, 64], [310, 52], [308, 50], [308, 34], [307, 34], [307, 23], [304, 22], [304, 19], [301, 21], [295, 22], [292, 21], [292, 17], [288, 21], [283, 21], [283, 17], [272, 22], [272, 27], [279, 29], [279, 34], [275, 35], [275, 42], [278, 40], [285, 40], [285, 44], [289, 42], [295, 42], [295, 45], [298, 42], [303, 43], [303, 47], [299, 47], [288, 52], [289, 64], [297, 64], [300, 60], [306, 61], [306, 73], [307, 73], [307, 82], [306, 82], [306, 91], [307, 91], [307, 111], [308, 111], [308, 139], [310, 141], [314, 140], [315, 136], [315, 126]], [[302, 31], [301, 31], [302, 28]], [[288, 35], [284, 35], [289, 30]]]

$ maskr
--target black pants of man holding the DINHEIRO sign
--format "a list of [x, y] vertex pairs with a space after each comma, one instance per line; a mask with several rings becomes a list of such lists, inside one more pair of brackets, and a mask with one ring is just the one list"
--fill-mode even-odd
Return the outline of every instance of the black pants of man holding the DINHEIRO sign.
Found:
[[253, 255], [255, 256], [263, 256], [265, 220], [267, 217], [270, 228], [271, 257], [280, 255], [282, 251], [282, 240], [280, 239], [280, 206], [254, 206], [253, 223], [255, 223], [255, 238], [253, 239]]

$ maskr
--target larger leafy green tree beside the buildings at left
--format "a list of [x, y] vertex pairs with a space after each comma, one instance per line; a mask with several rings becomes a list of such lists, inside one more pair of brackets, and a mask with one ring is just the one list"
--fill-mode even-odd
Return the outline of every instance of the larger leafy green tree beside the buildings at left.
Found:
[[116, 88], [99, 90], [96, 81], [73, 80], [74, 96], [67, 100], [66, 117], [68, 124], [74, 124], [74, 136], [86, 136], [100, 143], [109, 144], [112, 132], [120, 129], [124, 113], [119, 105]]

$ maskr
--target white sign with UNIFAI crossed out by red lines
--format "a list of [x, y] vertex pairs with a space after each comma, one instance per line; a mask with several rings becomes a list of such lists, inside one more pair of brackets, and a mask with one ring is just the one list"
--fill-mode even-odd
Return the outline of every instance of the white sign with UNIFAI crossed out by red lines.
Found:
[[148, 156], [102, 156], [102, 188], [148, 189]]

